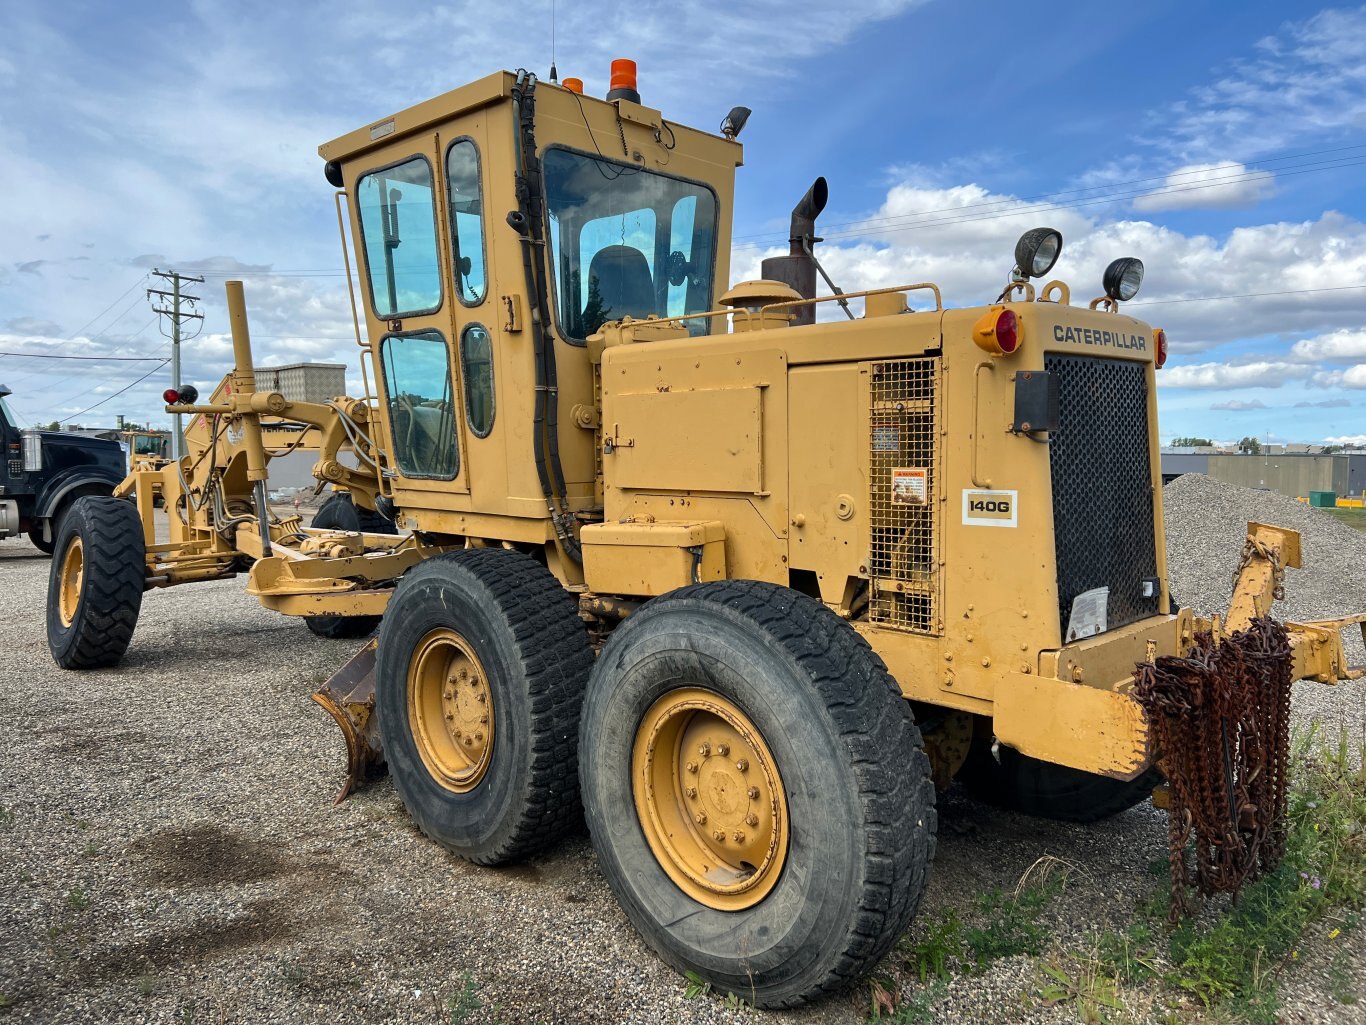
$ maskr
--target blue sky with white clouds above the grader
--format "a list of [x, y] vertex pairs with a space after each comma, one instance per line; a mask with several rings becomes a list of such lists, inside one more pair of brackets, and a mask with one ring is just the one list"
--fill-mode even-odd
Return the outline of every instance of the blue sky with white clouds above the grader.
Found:
[[[187, 379], [227, 368], [229, 276], [262, 362], [354, 370], [317, 145], [500, 67], [544, 75], [549, 3], [490, 8], [5, 0], [0, 351], [158, 357], [145, 275], [176, 266], [209, 279]], [[561, 3], [556, 45], [596, 94], [612, 57], [635, 57], [645, 102], [675, 120], [754, 108], [736, 279], [818, 174], [847, 290], [929, 279], [981, 303], [1019, 232], [1050, 224], [1075, 297], [1117, 256], [1146, 262], [1128, 310], [1172, 342], [1164, 439], [1366, 443], [1366, 8], [1098, 10]], [[1231, 295], [1251, 298], [1212, 298]], [[0, 381], [34, 421], [165, 421], [156, 368], [4, 355]]]

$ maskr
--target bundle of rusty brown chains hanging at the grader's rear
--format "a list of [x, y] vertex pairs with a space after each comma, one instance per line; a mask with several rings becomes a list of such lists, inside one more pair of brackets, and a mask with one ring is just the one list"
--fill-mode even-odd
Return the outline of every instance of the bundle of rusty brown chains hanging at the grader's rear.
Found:
[[1238, 894], [1285, 853], [1291, 652], [1285, 627], [1258, 618], [1190, 657], [1162, 656], [1135, 674], [1171, 782], [1172, 921], [1187, 891]]

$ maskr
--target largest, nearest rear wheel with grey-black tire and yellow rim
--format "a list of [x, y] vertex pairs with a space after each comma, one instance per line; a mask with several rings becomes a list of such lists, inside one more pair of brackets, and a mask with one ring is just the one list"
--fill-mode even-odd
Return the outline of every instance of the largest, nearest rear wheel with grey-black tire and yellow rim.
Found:
[[881, 659], [818, 601], [754, 581], [654, 599], [608, 640], [581, 731], [602, 872], [680, 970], [790, 1007], [914, 917], [929, 760]]

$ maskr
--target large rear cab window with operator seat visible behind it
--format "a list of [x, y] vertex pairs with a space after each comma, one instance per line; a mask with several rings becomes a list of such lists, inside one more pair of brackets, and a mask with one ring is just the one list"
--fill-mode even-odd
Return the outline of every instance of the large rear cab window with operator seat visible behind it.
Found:
[[[716, 195], [678, 178], [602, 157], [545, 154], [550, 258], [566, 338], [604, 321], [678, 317], [712, 306]], [[706, 321], [690, 321], [695, 335]]]

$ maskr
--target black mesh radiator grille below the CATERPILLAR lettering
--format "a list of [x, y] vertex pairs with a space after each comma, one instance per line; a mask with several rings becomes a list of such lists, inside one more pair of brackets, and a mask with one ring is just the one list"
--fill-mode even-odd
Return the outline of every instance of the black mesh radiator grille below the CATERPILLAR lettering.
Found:
[[1094, 588], [1109, 588], [1111, 630], [1157, 615], [1158, 597], [1143, 597], [1157, 575], [1146, 365], [1049, 354], [1044, 369], [1059, 381], [1049, 461], [1063, 634], [1072, 599]]

